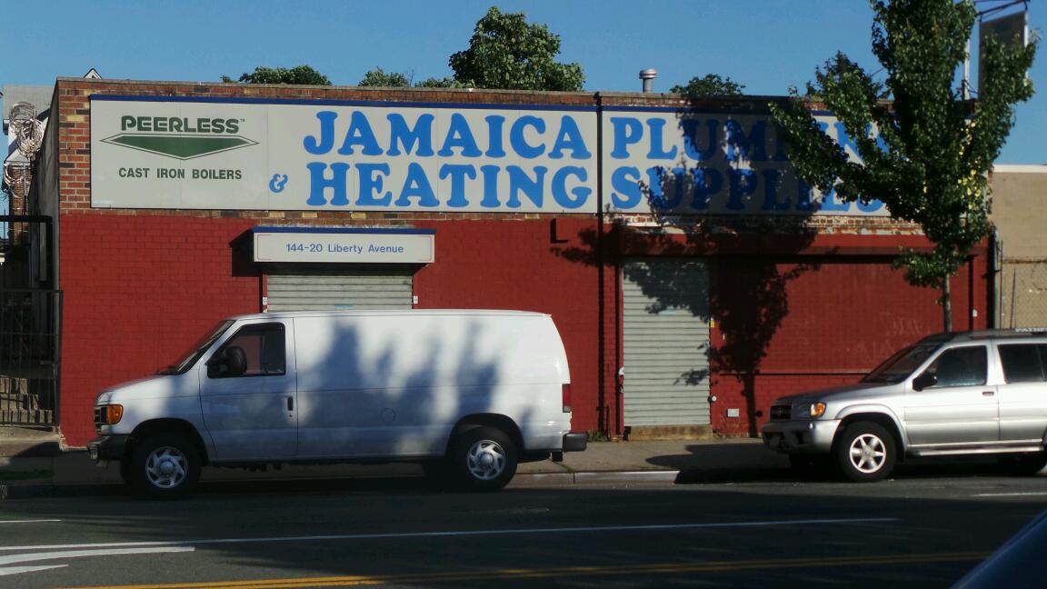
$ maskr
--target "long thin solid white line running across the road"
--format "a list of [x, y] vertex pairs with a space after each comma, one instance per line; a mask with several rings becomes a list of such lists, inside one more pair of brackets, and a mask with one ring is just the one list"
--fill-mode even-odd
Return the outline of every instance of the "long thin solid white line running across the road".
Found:
[[327, 542], [332, 540], [386, 540], [398, 538], [451, 538], [470, 536], [514, 536], [532, 533], [578, 533], [591, 531], [641, 531], [654, 529], [703, 529], [732, 527], [766, 527], [789, 525], [827, 525], [827, 524], [881, 524], [901, 521], [898, 518], [853, 518], [837, 520], [779, 520], [758, 522], [727, 522], [713, 524], [660, 524], [631, 526], [588, 526], [588, 527], [553, 527], [524, 529], [480, 529], [463, 531], [408, 531], [397, 533], [343, 533], [332, 536], [287, 536], [280, 538], [218, 538], [210, 540], [176, 540], [170, 542], [110, 542], [101, 544], [54, 544], [36, 546], [0, 546], [0, 551], [14, 550], [55, 550], [66, 548], [116, 548], [146, 546], [187, 546], [205, 544], [252, 544], [261, 542]]

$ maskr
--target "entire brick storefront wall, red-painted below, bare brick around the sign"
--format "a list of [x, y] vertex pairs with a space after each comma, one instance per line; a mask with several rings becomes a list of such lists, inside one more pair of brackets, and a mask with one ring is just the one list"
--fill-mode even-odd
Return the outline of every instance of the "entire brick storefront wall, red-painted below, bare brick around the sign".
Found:
[[[846, 372], [868, 369], [888, 348], [940, 328], [936, 294], [905, 284], [887, 258], [897, 253], [898, 245], [921, 246], [926, 241], [911, 225], [885, 218], [816, 217], [797, 223], [764, 217], [740, 230], [733, 219], [726, 222], [730, 231], [720, 231], [722, 220], [701, 218], [676, 237], [651, 240], [615, 222], [649, 224], [650, 219], [642, 216], [608, 216], [601, 221], [580, 215], [91, 209], [92, 93], [678, 106], [665, 97], [636, 94], [60, 80], [53, 121], [60, 133], [58, 232], [60, 287], [66, 305], [62, 430], [73, 444], [93, 435], [90, 407], [103, 388], [171, 362], [221, 317], [259, 310], [259, 270], [231, 245], [255, 224], [437, 230], [437, 262], [420, 269], [415, 280], [419, 306], [551, 313], [571, 362], [576, 430], [622, 433], [616, 380], [622, 362], [621, 256], [713, 260], [717, 300], [712, 319], [718, 324], [712, 332], [714, 347], [723, 345], [725, 335], [744, 333], [745, 322], [752, 321], [745, 318], [753, 312], [745, 303], [753, 302], [757, 292], [752, 271], [766, 270], [770, 264], [774, 271], [760, 276], [788, 277], [781, 281], [786, 312], [777, 320], [757, 375], [747, 387], [745, 379], [736, 375], [752, 371], [735, 363], [713, 378], [713, 394], [719, 400], [713, 406], [712, 424], [726, 433], [752, 432], [765, 419], [774, 396], [851, 381], [856, 375]], [[764, 107], [760, 101], [747, 108]], [[812, 261], [821, 266], [802, 271], [797, 267]], [[979, 257], [967, 274], [954, 281], [957, 328], [985, 325], [984, 274], [985, 261]], [[980, 311], [974, 320], [973, 308]], [[803, 371], [817, 374], [798, 373]], [[729, 407], [738, 407], [740, 418], [727, 418]]]

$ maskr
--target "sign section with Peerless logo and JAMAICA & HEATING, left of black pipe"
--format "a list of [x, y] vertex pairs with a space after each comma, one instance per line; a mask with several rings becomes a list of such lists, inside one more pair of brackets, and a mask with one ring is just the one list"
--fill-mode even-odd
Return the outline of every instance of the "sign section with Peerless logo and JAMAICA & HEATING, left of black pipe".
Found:
[[91, 99], [96, 208], [597, 212], [595, 108]]

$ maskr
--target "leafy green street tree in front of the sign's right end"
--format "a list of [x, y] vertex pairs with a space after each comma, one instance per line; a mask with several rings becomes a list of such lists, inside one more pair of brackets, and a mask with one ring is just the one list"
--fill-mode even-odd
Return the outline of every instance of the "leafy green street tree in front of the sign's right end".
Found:
[[[846, 201], [877, 198], [893, 217], [920, 225], [934, 248], [905, 249], [895, 266], [906, 267], [911, 284], [941, 289], [944, 329], [952, 330], [949, 279], [992, 230], [987, 175], [1015, 124], [1015, 104], [1032, 96], [1026, 71], [1038, 41], [989, 42], [979, 72], [984, 93], [964, 101], [957, 71], [977, 18], [974, 3], [870, 3], [872, 49], [885, 82], [838, 53], [816, 71], [805, 96], [793, 88], [785, 105], [771, 108], [805, 181]], [[821, 131], [812, 103], [836, 114], [860, 160]]]

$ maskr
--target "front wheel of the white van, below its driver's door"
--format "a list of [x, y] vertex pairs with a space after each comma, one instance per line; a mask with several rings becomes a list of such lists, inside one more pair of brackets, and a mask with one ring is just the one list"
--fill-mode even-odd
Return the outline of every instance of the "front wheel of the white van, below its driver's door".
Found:
[[149, 436], [131, 453], [128, 475], [138, 493], [155, 499], [176, 499], [196, 486], [200, 462], [200, 453], [192, 441], [171, 434]]

